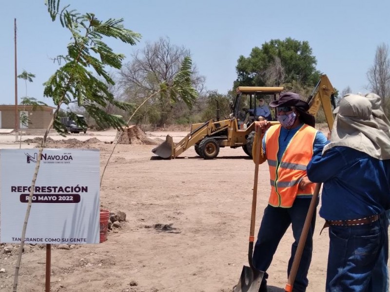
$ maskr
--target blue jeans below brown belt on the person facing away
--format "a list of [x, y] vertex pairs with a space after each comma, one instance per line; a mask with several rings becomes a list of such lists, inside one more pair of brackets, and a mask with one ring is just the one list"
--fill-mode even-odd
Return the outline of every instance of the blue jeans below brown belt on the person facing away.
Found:
[[329, 227], [327, 292], [381, 292], [372, 271], [387, 243], [385, 215], [371, 224]]

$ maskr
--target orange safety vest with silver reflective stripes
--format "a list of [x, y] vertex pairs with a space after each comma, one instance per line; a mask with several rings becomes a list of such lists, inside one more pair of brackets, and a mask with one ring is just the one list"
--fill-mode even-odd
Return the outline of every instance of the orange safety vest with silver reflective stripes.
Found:
[[314, 192], [314, 183], [304, 190], [299, 183], [306, 175], [306, 166], [313, 156], [313, 144], [317, 130], [303, 125], [291, 138], [282, 160], [277, 161], [281, 125], [275, 125], [266, 133], [266, 156], [270, 167], [271, 196], [269, 204], [273, 207], [290, 208], [296, 196], [308, 196]]

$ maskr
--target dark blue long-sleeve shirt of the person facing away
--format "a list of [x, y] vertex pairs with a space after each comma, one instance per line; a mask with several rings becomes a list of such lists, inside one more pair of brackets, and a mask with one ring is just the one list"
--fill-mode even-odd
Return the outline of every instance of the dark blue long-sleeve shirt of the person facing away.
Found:
[[307, 175], [324, 183], [319, 212], [324, 219], [359, 219], [390, 208], [390, 160], [335, 146], [312, 158]]

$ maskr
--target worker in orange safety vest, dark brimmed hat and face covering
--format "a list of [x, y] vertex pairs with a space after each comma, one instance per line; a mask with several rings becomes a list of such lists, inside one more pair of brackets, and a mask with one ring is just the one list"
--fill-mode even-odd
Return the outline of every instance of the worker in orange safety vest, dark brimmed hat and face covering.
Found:
[[[270, 103], [276, 108], [280, 125], [270, 127], [268, 121], [255, 122], [255, 129], [261, 128], [262, 147], [256, 153], [255, 137], [253, 159], [260, 155], [260, 163], [268, 161], [271, 178], [271, 196], [264, 210], [263, 219], [254, 246], [254, 267], [266, 272], [280, 239], [292, 225], [294, 242], [287, 273], [290, 274], [303, 225], [308, 213], [315, 184], [306, 175], [306, 166], [313, 154], [321, 153], [327, 143], [323, 133], [314, 127], [314, 117], [307, 113], [308, 103], [292, 92], [280, 94], [279, 100]], [[312, 235], [315, 212], [312, 218], [301, 263], [293, 283], [294, 292], [305, 292], [308, 286], [308, 270], [312, 260]], [[267, 291], [268, 274], [265, 273], [260, 292]]]

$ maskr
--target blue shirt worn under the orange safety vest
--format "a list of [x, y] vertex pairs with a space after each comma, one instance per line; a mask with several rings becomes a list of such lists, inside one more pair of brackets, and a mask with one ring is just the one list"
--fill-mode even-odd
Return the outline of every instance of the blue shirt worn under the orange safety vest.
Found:
[[[295, 133], [302, 128], [303, 124], [299, 125], [296, 128], [292, 128], [290, 130], [281, 127], [280, 128], [280, 134], [279, 134], [279, 150], [277, 151], [277, 161], [280, 162], [282, 160], [283, 153], [286, 151], [287, 146], [290, 143], [291, 138], [295, 135]], [[267, 156], [267, 149], [266, 149], [266, 137], [267, 137], [267, 132], [265, 132], [264, 137], [263, 137], [263, 153]], [[318, 131], [317, 134], [315, 135], [314, 138], [314, 143], [313, 143], [313, 156], [316, 155], [317, 153], [321, 153], [322, 149], [324, 146], [328, 144], [328, 139], [325, 137], [325, 135]], [[299, 147], [299, 146], [298, 146]], [[302, 199], [302, 198], [311, 198], [311, 195], [308, 196], [298, 196], [297, 198]]]

